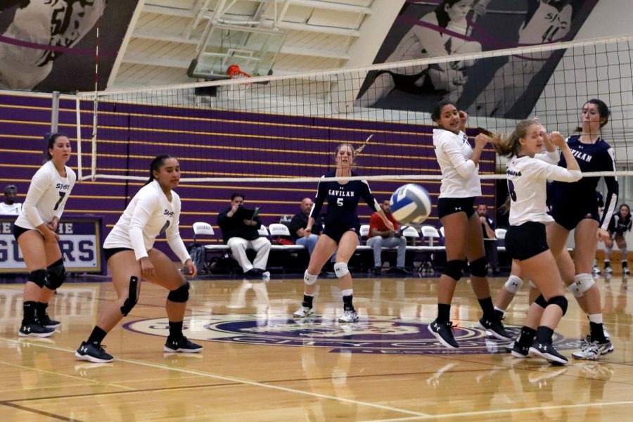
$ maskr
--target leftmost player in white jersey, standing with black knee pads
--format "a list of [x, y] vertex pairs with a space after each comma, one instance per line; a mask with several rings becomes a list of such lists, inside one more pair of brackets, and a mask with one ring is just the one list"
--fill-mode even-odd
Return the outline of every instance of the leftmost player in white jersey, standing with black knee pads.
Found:
[[66, 278], [56, 231], [77, 176], [66, 166], [70, 159], [68, 136], [51, 134], [47, 154], [48, 160], [31, 179], [22, 211], [13, 224], [13, 236], [29, 271], [18, 332], [22, 337], [48, 337], [60, 325], [49, 317], [46, 307]]

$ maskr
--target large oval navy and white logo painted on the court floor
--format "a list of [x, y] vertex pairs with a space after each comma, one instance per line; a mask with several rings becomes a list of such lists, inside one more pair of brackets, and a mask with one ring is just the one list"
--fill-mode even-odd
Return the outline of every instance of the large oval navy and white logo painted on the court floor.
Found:
[[[331, 352], [381, 354], [504, 353], [508, 342], [487, 338], [475, 322], [461, 321], [454, 329], [459, 349], [448, 350], [428, 331], [428, 324], [397, 316], [368, 316], [355, 324], [338, 324], [331, 317], [295, 319], [288, 315], [199, 315], [184, 321], [191, 340], [276, 346], [326, 347]], [[130, 331], [167, 336], [166, 318], [143, 319], [124, 325]], [[513, 336], [519, 327], [506, 327]], [[554, 334], [559, 350], [575, 349], [578, 339]]]

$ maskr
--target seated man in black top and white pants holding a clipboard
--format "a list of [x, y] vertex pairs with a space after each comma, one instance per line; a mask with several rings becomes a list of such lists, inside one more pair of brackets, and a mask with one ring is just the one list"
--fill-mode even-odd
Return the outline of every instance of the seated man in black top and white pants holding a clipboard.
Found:
[[[270, 241], [260, 237], [257, 232], [262, 226], [259, 217], [252, 218], [253, 210], [243, 207], [244, 196], [241, 193], [231, 195], [231, 206], [219, 213], [217, 225], [222, 230], [222, 239], [231, 248], [235, 260], [242, 267], [246, 276], [270, 276], [266, 271]], [[257, 252], [252, 263], [246, 257], [246, 250]]]

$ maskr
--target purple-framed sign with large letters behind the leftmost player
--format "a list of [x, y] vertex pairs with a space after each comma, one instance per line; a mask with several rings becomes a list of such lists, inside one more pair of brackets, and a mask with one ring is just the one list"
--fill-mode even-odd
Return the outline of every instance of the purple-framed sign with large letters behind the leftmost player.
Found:
[[[0, 273], [25, 273], [22, 251], [13, 237], [15, 216], [0, 216]], [[68, 272], [103, 271], [101, 217], [64, 218], [59, 222], [59, 245]]]

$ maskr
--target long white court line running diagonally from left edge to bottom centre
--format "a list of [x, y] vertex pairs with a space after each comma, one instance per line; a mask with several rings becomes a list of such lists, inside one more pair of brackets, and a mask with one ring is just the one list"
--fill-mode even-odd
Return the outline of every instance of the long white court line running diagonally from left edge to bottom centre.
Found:
[[[4, 341], [6, 341], [8, 343], [20, 343], [18, 340], [13, 340], [11, 338], [2, 338], [2, 337], [0, 337], [0, 340], [4, 340]], [[33, 346], [42, 347], [44, 349], [57, 350], [59, 352], [68, 352], [69, 354], [75, 352], [75, 350], [65, 349], [63, 347], [56, 347], [56, 346], [53, 346], [53, 345], [45, 345], [45, 344], [37, 344], [37, 343], [30, 343], [30, 344], [33, 345]], [[177, 372], [180, 372], [180, 373], [188, 373], [188, 374], [191, 374], [191, 375], [203, 376], [203, 377], [206, 377], [206, 378], [213, 378], [213, 379], [222, 380], [222, 381], [231, 381], [233, 383], [238, 383], [238, 384], [253, 385], [255, 387], [269, 388], [271, 390], [279, 390], [279, 391], [290, 392], [290, 393], [294, 393], [294, 394], [308, 395], [308, 396], [312, 396], [312, 397], [319, 397], [321, 399], [331, 399], [331, 400], [336, 400], [338, 402], [345, 402], [345, 403], [350, 403], [350, 404], [356, 404], [356, 405], [359, 405], [359, 406], [375, 407], [376, 409], [382, 409], [382, 410], [394, 411], [394, 412], [397, 412], [397, 413], [414, 415], [416, 418], [419, 418], [419, 417], [423, 417], [423, 418], [433, 417], [433, 416], [431, 416], [429, 414], [423, 414], [423, 413], [418, 412], [418, 411], [411, 411], [411, 410], [406, 410], [406, 409], [399, 409], [397, 407], [383, 406], [382, 404], [360, 402], [359, 400], [346, 399], [344, 397], [335, 397], [335, 396], [331, 396], [331, 395], [320, 394], [318, 392], [309, 392], [309, 391], [304, 391], [304, 390], [296, 390], [295, 388], [281, 387], [279, 385], [258, 383], [257, 381], [249, 381], [249, 380], [245, 380], [245, 379], [242, 379], [242, 378], [236, 378], [236, 377], [232, 377], [232, 376], [217, 375], [215, 373], [208, 373], [208, 372], [203, 372], [203, 371], [195, 371], [193, 369], [177, 368], [177, 367], [169, 366], [169, 365], [153, 364], [151, 362], [143, 362], [143, 361], [138, 361], [138, 360], [134, 360], [134, 359], [120, 359], [120, 358], [117, 358], [116, 360], [117, 360], [117, 362], [124, 362], [124, 363], [127, 363], [127, 364], [148, 366], [150, 368], [162, 369], [162, 370], [166, 370], [166, 371], [177, 371]], [[406, 420], [406, 419], [404, 419], [404, 420]]]

